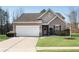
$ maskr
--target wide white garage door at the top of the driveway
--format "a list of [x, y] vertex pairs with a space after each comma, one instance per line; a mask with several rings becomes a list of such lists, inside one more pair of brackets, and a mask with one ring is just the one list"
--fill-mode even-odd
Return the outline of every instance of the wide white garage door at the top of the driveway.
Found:
[[40, 26], [16, 26], [16, 36], [39, 36]]

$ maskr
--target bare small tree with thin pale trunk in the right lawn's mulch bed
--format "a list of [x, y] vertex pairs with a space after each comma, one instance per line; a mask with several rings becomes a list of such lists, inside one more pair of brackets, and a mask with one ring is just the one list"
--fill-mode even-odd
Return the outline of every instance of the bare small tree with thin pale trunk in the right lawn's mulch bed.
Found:
[[[77, 9], [75, 10], [74, 7], [69, 7], [68, 8], [70, 10], [69, 14], [65, 14], [65, 16], [67, 16], [69, 18], [69, 22], [70, 22], [70, 38], [72, 39], [72, 29], [76, 29], [77, 28], [77, 16], [78, 16], [78, 12]], [[74, 28], [73, 28], [74, 27]]]

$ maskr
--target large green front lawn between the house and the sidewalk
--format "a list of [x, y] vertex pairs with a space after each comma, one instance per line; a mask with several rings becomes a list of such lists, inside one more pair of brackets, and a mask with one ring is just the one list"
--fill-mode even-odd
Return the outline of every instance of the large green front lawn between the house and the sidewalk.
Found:
[[79, 46], [79, 33], [72, 34], [74, 40], [64, 39], [65, 36], [48, 36], [40, 37], [38, 47], [53, 47], [53, 46]]

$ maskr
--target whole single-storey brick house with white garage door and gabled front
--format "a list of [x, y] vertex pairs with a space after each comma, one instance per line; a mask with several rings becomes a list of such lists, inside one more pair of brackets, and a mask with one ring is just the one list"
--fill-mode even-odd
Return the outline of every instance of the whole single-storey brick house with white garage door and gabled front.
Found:
[[44, 13], [23, 13], [13, 22], [16, 36], [52, 35], [66, 29], [65, 18], [48, 9]]

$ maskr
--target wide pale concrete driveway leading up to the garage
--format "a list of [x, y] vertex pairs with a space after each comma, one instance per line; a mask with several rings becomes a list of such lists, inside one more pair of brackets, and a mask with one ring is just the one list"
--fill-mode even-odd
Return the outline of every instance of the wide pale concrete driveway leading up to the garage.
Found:
[[0, 52], [35, 52], [38, 37], [14, 37], [0, 42]]

